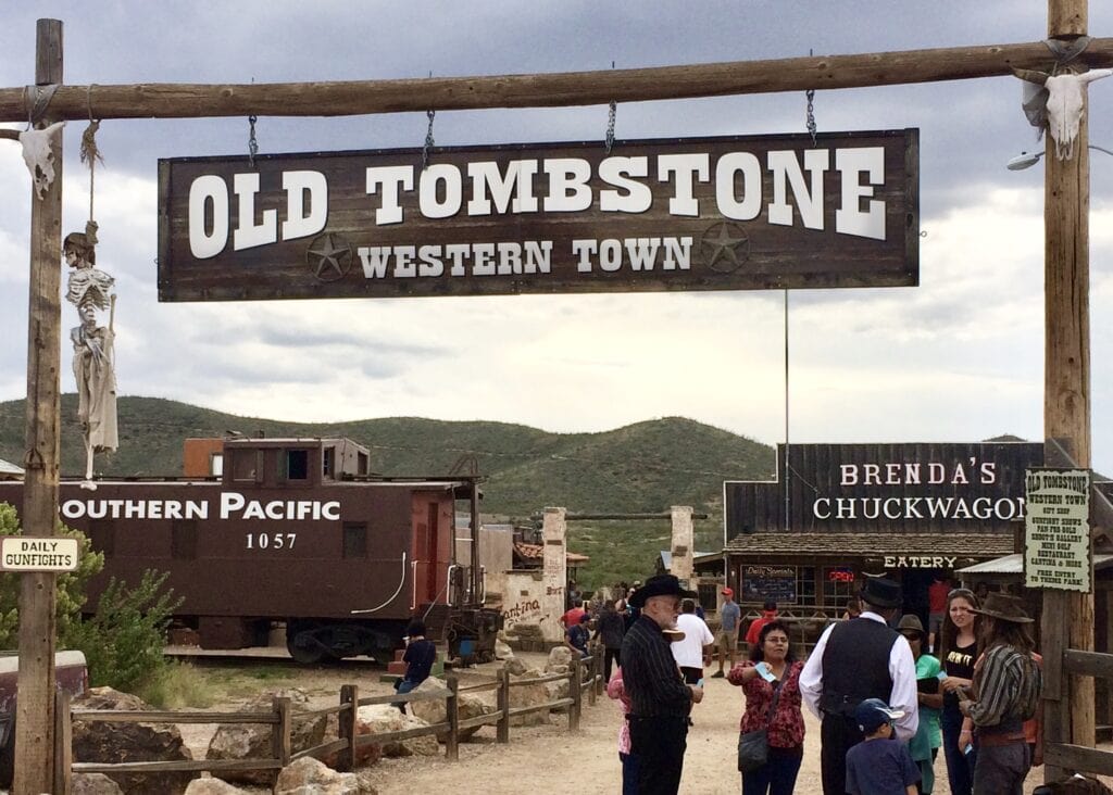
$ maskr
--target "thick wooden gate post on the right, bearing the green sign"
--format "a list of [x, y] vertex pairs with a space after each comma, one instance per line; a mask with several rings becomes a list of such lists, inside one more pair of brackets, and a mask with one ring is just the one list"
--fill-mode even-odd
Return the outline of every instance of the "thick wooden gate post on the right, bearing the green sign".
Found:
[[[1048, 0], [1048, 38], [1073, 40], [1084, 36], [1087, 8], [1087, 0]], [[1044, 158], [1044, 436], [1067, 439], [1080, 467], [1091, 463], [1087, 145], [1083, 115], [1074, 157], [1060, 160], [1048, 136]], [[1043, 629], [1044, 650], [1053, 657], [1047, 667], [1051, 687], [1044, 709], [1045, 738], [1093, 746], [1094, 682], [1089, 677], [1067, 678], [1061, 673], [1066, 648], [1094, 647], [1093, 594], [1046, 590]], [[1055, 781], [1063, 773], [1047, 766], [1044, 779]]]

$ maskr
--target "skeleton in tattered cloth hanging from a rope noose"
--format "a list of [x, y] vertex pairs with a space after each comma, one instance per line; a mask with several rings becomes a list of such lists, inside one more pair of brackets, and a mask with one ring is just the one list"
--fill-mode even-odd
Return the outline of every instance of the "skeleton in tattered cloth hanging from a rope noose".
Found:
[[[119, 445], [116, 419], [115, 321], [116, 280], [97, 268], [97, 222], [92, 220], [93, 168], [97, 122], [90, 119], [81, 139], [81, 160], [89, 163], [89, 222], [83, 232], [71, 232], [62, 242], [62, 256], [72, 269], [66, 285], [66, 300], [77, 307], [81, 322], [70, 329], [73, 344], [73, 378], [77, 381], [78, 421], [85, 437], [86, 488], [92, 483], [92, 458]], [[98, 325], [97, 312], [108, 311], [108, 326]]]

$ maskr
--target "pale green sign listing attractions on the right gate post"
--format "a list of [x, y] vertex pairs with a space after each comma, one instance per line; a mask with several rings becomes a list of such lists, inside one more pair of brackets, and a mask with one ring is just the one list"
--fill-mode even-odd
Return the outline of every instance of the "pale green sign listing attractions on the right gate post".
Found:
[[1090, 470], [1030, 469], [1025, 493], [1024, 585], [1089, 594]]

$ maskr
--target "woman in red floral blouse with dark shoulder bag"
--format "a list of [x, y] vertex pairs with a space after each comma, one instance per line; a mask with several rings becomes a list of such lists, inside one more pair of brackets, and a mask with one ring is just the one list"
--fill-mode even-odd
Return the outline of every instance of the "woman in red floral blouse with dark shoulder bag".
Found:
[[[804, 759], [804, 715], [800, 712], [800, 670], [788, 643], [788, 626], [775, 620], [761, 627], [750, 658], [727, 675], [746, 694], [740, 731], [769, 729], [769, 757], [765, 765], [742, 774], [742, 795], [789, 795]], [[772, 682], [768, 680], [772, 678]], [[769, 715], [774, 688], [779, 687], [777, 713]]]

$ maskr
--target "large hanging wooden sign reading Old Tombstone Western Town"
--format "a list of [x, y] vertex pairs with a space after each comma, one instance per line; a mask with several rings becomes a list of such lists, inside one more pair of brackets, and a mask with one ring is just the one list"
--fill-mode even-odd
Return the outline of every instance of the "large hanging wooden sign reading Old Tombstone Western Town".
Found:
[[159, 299], [915, 285], [917, 130], [159, 161]]

